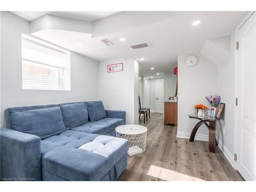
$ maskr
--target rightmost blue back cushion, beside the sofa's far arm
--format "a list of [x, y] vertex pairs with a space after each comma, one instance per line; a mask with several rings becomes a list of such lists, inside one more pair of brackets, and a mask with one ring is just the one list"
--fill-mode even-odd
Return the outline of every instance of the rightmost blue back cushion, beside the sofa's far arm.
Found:
[[89, 101], [87, 102], [87, 110], [90, 121], [98, 121], [106, 118], [106, 112], [102, 101]]

